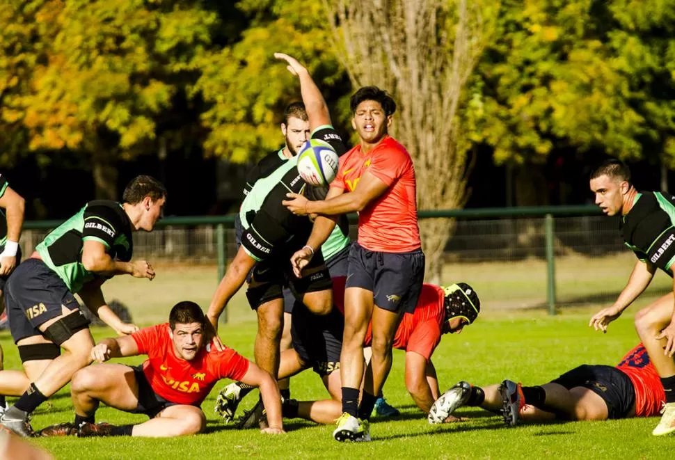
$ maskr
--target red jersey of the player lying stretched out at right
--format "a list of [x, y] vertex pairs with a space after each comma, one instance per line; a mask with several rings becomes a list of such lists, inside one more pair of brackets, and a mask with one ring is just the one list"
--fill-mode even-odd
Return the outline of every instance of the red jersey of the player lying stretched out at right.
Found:
[[635, 388], [635, 417], [658, 415], [666, 396], [656, 368], [649, 360], [643, 344], [628, 351], [617, 369], [628, 375]]

